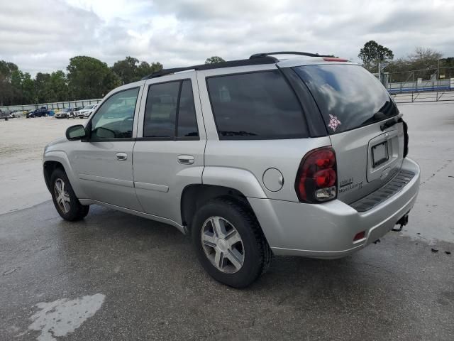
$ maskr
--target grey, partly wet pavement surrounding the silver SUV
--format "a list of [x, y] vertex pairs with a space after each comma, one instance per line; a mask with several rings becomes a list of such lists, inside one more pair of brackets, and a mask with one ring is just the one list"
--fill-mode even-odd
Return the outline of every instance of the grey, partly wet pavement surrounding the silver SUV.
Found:
[[454, 340], [454, 104], [399, 108], [422, 169], [406, 229], [344, 259], [276, 257], [245, 290], [168, 225], [95, 205], [62, 221], [40, 158], [80, 120], [0, 121], [0, 340]]

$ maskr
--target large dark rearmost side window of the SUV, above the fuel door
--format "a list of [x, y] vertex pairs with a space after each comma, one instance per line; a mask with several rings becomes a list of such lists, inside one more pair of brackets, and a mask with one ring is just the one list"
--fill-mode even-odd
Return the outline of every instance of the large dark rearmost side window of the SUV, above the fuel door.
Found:
[[219, 139], [308, 136], [301, 105], [279, 70], [209, 77], [206, 83]]

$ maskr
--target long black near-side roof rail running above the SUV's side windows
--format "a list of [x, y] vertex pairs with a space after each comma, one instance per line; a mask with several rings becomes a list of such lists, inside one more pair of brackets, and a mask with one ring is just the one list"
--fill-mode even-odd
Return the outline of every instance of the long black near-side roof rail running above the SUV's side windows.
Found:
[[274, 64], [277, 61], [278, 61], [277, 58], [264, 55], [263, 57], [240, 59], [240, 60], [230, 60], [228, 62], [221, 62], [221, 63], [201, 64], [201, 65], [194, 65], [194, 66], [188, 66], [188, 67], [174, 67], [172, 69], [162, 69], [162, 70], [153, 72], [151, 75], [143, 77], [142, 80], [150, 80], [151, 78], [162, 77], [165, 75], [172, 75], [176, 72], [189, 71], [189, 70], [211, 70], [211, 69], [220, 69], [223, 67]]

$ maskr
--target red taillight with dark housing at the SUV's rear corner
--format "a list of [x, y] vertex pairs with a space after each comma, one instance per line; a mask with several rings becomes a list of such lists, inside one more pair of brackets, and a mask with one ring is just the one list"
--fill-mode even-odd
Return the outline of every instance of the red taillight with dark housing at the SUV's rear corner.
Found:
[[295, 190], [301, 202], [324, 202], [337, 196], [336, 153], [324, 147], [309, 151], [299, 164]]

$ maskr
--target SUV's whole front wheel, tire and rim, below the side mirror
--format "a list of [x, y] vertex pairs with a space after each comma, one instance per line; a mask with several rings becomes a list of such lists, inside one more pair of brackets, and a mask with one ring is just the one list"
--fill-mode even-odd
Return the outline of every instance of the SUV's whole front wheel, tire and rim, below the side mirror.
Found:
[[82, 205], [72, 190], [65, 171], [56, 168], [50, 177], [52, 201], [64, 220], [81, 220], [88, 215], [89, 205]]

